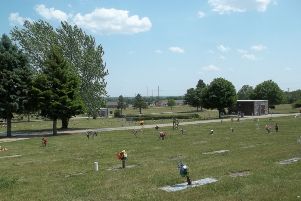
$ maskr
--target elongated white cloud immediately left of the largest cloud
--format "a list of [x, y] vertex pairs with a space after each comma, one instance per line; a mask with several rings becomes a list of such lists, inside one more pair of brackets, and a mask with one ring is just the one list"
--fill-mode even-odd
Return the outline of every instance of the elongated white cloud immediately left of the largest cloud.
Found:
[[72, 14], [66, 14], [63, 11], [55, 10], [54, 8], [46, 8], [43, 4], [37, 5], [35, 9], [47, 20], [67, 21], [69, 17], [72, 17]]

